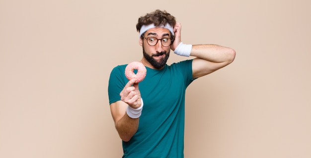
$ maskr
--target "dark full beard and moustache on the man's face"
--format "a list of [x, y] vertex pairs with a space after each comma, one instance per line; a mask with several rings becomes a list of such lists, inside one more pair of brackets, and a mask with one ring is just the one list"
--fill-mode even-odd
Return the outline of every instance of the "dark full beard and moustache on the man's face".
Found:
[[[143, 54], [144, 54], [144, 57], [146, 58], [146, 60], [151, 64], [153, 65], [156, 69], [160, 69], [162, 68], [165, 64], [166, 64], [166, 61], [169, 57], [169, 52], [166, 52], [166, 51], [163, 51], [163, 52], [160, 52], [160, 53], [156, 53], [156, 54], [152, 54], [152, 55], [148, 55], [146, 52], [145, 52], [145, 48], [143, 46]], [[159, 62], [157, 62], [155, 59], [154, 59], [154, 56], [159, 56], [159, 55], [164, 55], [164, 57], [162, 57], [160, 59]]]

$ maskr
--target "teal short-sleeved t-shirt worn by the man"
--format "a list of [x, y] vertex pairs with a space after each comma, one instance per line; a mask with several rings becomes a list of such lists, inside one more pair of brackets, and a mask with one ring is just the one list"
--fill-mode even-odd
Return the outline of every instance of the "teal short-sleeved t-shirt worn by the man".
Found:
[[[125, 67], [113, 68], [109, 78], [109, 104], [120, 101], [120, 92], [129, 81]], [[123, 158], [183, 158], [185, 92], [192, 78], [192, 59], [165, 65], [163, 69], [147, 68], [139, 83], [144, 100], [136, 134], [122, 142]]]

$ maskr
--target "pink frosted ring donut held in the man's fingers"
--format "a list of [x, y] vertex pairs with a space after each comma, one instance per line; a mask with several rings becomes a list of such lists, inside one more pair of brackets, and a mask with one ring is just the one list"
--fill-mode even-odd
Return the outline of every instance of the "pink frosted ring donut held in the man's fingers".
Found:
[[[137, 73], [134, 73], [134, 70], [137, 70]], [[147, 69], [143, 63], [138, 61], [133, 61], [125, 67], [125, 76], [127, 79], [131, 80], [136, 79], [135, 83], [139, 83], [144, 80], [146, 77]]]

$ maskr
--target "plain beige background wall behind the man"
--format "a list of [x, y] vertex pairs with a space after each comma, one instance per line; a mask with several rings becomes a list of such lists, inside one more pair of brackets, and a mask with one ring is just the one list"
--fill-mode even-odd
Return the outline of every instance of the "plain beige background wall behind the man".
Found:
[[[156, 8], [235, 49], [187, 90], [186, 158], [311, 158], [310, 0], [0, 0], [0, 158], [120, 158], [111, 69]], [[186, 59], [172, 54], [169, 63]]]

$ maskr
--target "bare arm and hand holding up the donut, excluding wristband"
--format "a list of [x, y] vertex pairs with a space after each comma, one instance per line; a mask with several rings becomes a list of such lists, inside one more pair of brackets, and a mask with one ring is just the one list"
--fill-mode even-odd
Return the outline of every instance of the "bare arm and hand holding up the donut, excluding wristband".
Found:
[[134, 84], [135, 79], [130, 80], [121, 91], [121, 101], [110, 105], [111, 114], [115, 122], [115, 127], [120, 138], [128, 142], [136, 133], [139, 124], [139, 118], [131, 118], [126, 114], [127, 106], [138, 108], [142, 105], [141, 94], [138, 84]]

